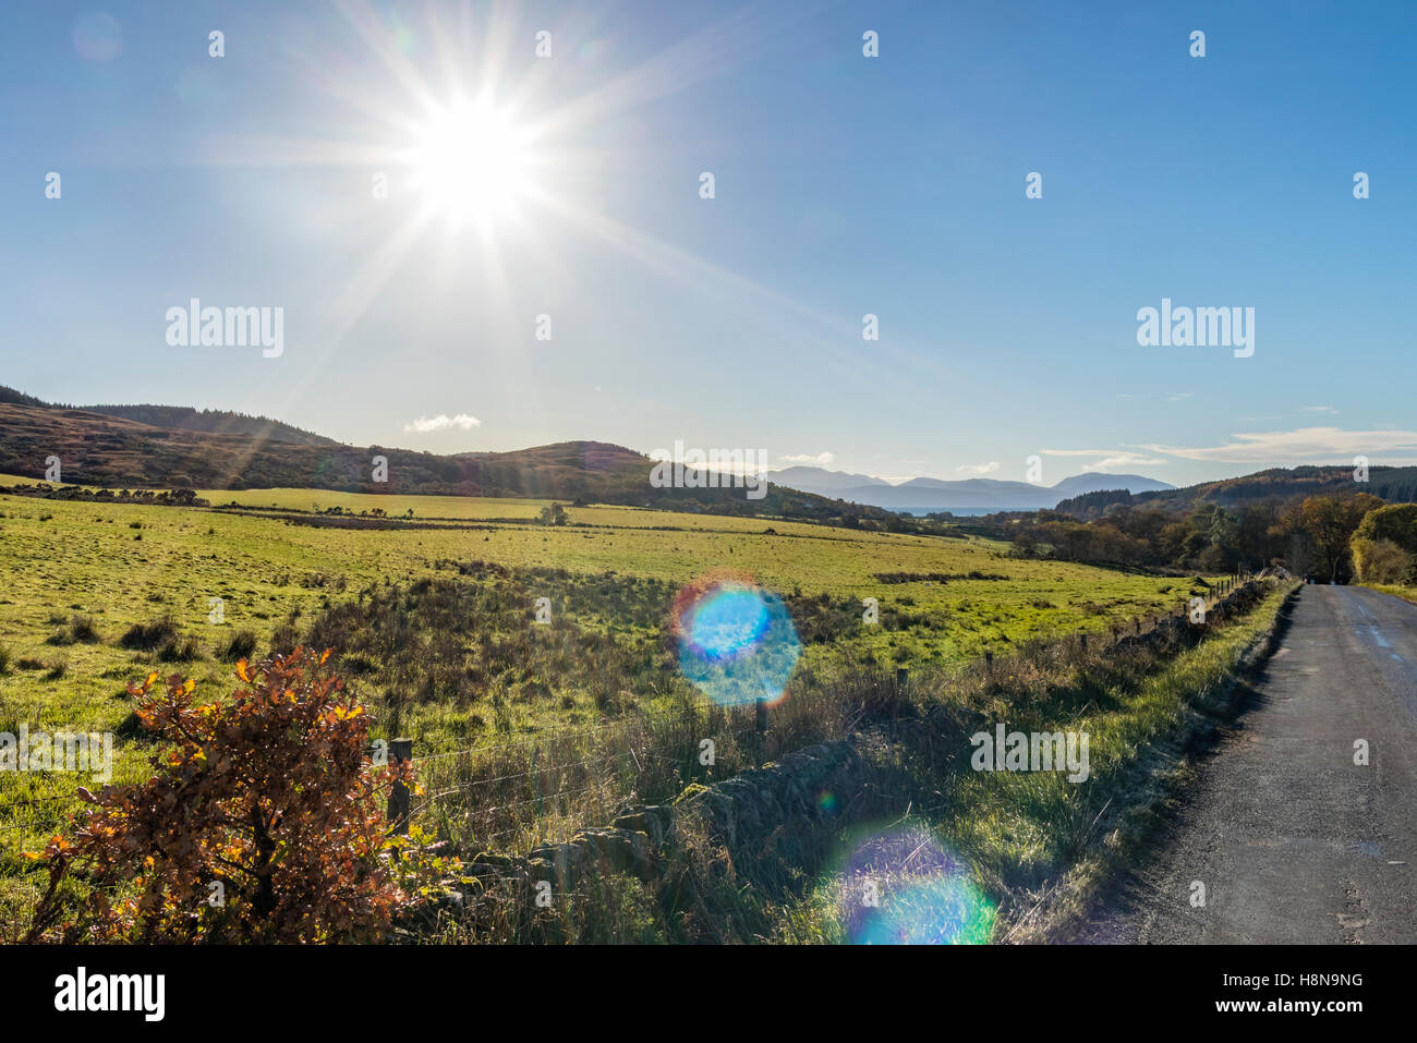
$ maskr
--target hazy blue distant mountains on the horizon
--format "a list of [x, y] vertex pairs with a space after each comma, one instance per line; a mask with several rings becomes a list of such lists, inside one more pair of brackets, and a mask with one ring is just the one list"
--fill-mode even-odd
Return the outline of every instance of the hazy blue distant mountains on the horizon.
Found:
[[883, 478], [825, 468], [785, 468], [769, 472], [768, 480], [887, 510], [1040, 510], [1056, 507], [1074, 496], [1108, 489], [1144, 493], [1176, 487], [1142, 475], [1102, 475], [1093, 470], [1064, 478], [1053, 486], [993, 478], [966, 478], [958, 482], [913, 478], [893, 485]]

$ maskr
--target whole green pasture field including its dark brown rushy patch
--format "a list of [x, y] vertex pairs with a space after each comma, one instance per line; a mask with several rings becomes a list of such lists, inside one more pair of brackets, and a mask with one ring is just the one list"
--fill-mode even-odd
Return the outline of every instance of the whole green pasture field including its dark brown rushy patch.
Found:
[[[0, 733], [115, 733], [113, 781], [135, 781], [152, 750], [129, 680], [181, 673], [218, 694], [238, 655], [320, 639], [350, 652], [376, 734], [412, 735], [429, 754], [694, 699], [670, 609], [684, 585], [723, 570], [786, 602], [803, 646], [794, 684], [837, 663], [947, 666], [1107, 632], [1175, 612], [1193, 582], [1016, 560], [978, 539], [764, 519], [588, 506], [543, 526], [540, 500], [203, 496], [306, 514], [0, 496]], [[448, 523], [307, 524], [333, 506]], [[536, 597], [550, 599], [548, 628], [533, 622]], [[877, 599], [879, 625], [863, 622], [863, 598]], [[0, 924], [33, 901], [21, 852], [77, 806], [77, 784], [91, 785], [0, 774]]]

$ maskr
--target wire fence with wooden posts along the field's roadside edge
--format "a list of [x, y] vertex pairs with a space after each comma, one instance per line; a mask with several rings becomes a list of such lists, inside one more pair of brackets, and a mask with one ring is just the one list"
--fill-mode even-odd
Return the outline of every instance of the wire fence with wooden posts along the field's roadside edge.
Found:
[[[1202, 619], [1247, 584], [1237, 574], [1199, 599]], [[1224, 611], [1224, 609], [1221, 609]], [[1196, 622], [1187, 595], [1176, 611], [1135, 616], [1131, 625], [1078, 632], [1060, 641], [1029, 642], [1009, 656], [934, 670], [939, 692], [1007, 683], [1022, 669], [1054, 669], [1078, 656], [1101, 655], [1124, 642], [1145, 642], [1163, 626]], [[1110, 641], [1108, 641], [1110, 638]], [[1090, 645], [1091, 642], [1091, 645]], [[840, 738], [863, 717], [905, 696], [905, 670], [837, 676], [829, 686], [795, 690], [775, 706], [723, 706], [708, 697], [672, 710], [640, 711], [597, 724], [479, 743], [466, 750], [412, 755], [412, 740], [394, 740], [394, 760], [412, 761], [417, 791], [398, 792], [390, 819], [405, 830], [418, 823], [461, 850], [502, 850], [565, 839], [592, 823], [611, 822], [633, 804], [653, 804], [693, 782], [711, 784], [811, 743]], [[0, 808], [71, 801], [69, 794], [6, 799]]]

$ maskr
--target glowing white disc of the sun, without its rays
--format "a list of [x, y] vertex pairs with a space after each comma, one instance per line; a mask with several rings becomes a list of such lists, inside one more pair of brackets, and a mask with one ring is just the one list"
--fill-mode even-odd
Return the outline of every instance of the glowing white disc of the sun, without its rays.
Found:
[[429, 217], [486, 227], [517, 217], [533, 193], [533, 133], [486, 96], [435, 109], [412, 139], [401, 159]]

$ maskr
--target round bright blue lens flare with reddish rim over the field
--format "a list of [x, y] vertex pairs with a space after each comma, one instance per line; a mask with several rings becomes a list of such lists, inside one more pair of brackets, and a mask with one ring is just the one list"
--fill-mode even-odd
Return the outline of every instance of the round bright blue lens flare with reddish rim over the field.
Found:
[[680, 672], [723, 706], [778, 701], [802, 652], [782, 599], [730, 573], [679, 592], [674, 635]]

